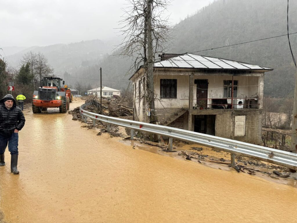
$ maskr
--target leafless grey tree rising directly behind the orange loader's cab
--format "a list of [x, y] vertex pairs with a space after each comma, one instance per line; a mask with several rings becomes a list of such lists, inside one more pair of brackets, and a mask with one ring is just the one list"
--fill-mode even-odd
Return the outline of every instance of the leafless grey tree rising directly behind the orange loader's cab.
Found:
[[36, 65], [34, 70], [36, 72], [35, 80], [40, 84], [40, 86], [42, 85], [42, 79], [44, 76], [53, 74], [53, 68], [48, 64], [48, 58], [40, 52], [36, 54]]

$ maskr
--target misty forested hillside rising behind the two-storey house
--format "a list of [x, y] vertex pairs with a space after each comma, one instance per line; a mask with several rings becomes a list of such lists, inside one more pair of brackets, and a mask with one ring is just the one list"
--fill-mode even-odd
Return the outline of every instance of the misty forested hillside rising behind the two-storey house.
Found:
[[[297, 1], [289, 4], [289, 31], [297, 32]], [[181, 21], [172, 52], [184, 53], [232, 45], [287, 33], [287, 1], [219, 0]], [[297, 57], [297, 34], [290, 35]], [[265, 94], [293, 95], [295, 65], [287, 36], [196, 52], [274, 68], [265, 75]]]

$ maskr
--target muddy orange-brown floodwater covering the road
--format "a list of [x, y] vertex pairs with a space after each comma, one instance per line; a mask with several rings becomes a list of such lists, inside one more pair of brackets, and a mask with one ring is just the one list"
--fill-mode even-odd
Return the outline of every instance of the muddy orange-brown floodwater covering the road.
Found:
[[296, 222], [294, 187], [133, 149], [49, 112], [25, 111], [20, 175], [5, 152], [0, 222]]

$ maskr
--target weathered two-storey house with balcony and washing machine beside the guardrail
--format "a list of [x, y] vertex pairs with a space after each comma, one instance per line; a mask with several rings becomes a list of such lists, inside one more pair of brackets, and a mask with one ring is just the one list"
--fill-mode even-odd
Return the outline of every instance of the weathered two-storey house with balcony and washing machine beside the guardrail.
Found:
[[[260, 143], [264, 72], [273, 69], [189, 53], [160, 56], [154, 63], [159, 125]], [[135, 120], [148, 122], [143, 67], [129, 80]]]

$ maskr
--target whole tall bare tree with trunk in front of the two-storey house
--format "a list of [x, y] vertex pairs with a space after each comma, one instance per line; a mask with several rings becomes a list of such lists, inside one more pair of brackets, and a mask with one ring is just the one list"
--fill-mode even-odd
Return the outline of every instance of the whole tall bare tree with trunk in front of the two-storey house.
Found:
[[[124, 15], [119, 22], [122, 43], [117, 46], [119, 56], [132, 58], [133, 62], [129, 73], [135, 73], [140, 65], [144, 68], [145, 86], [142, 95], [138, 98], [140, 103], [146, 104], [151, 109], [150, 123], [157, 122], [154, 109], [154, 82], [153, 62], [158, 53], [164, 52], [170, 46], [171, 27], [168, 17], [163, 17], [163, 12], [170, 4], [170, 0], [127, 0], [128, 7], [123, 9]], [[141, 92], [141, 91], [140, 91]]]

